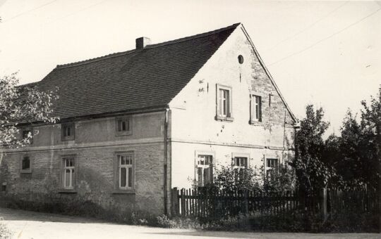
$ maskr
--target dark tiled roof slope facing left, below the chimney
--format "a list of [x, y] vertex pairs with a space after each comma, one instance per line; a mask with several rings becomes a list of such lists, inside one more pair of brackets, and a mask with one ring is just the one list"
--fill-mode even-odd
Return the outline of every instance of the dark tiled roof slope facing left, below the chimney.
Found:
[[57, 65], [37, 87], [58, 86], [54, 116], [61, 118], [164, 107], [238, 25], [143, 50]]

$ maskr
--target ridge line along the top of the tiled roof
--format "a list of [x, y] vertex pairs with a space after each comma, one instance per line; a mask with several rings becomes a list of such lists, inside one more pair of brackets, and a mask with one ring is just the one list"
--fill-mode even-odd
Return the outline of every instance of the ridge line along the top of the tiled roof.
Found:
[[[182, 41], [189, 41], [191, 39], [197, 39], [199, 37], [206, 37], [206, 36], [209, 36], [211, 34], [216, 34], [216, 33], [219, 33], [219, 32], [226, 31], [226, 30], [230, 30], [232, 28], [236, 28], [240, 24], [241, 23], [238, 22], [238, 23], [235, 23], [235, 24], [227, 26], [227, 27], [219, 28], [217, 30], [212, 30], [212, 31], [209, 31], [209, 32], [203, 32], [203, 33], [195, 34], [195, 35], [188, 36], [188, 37], [181, 37], [179, 39], [174, 39], [174, 40], [170, 40], [170, 41], [163, 41], [163, 42], [160, 42], [160, 43], [157, 43], [157, 44], [147, 45], [145, 47], [145, 49], [153, 49], [153, 48], [160, 47], [160, 46], [167, 46], [167, 45], [179, 43], [179, 42], [182, 42]], [[133, 52], [135, 52], [135, 49], [128, 50], [128, 51], [116, 52], [116, 53], [110, 53], [110, 54], [107, 54], [105, 56], [98, 56], [96, 58], [90, 58], [90, 59], [86, 59], [86, 60], [79, 60], [79, 61], [76, 61], [76, 62], [73, 62], [73, 63], [66, 63], [66, 64], [62, 64], [62, 65], [56, 65], [56, 69], [63, 69], [63, 68], [74, 67], [74, 66], [77, 66], [77, 65], [83, 65], [83, 64], [87, 64], [87, 63], [94, 63], [94, 62], [97, 62], [99, 60], [114, 58], [114, 57], [117, 57], [117, 56], [123, 56], [123, 55], [126, 55], [128, 53], [133, 53]]]

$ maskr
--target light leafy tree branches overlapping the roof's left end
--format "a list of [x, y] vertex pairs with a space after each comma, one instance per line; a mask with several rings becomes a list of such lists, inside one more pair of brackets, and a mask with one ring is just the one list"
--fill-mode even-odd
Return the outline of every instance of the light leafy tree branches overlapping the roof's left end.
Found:
[[30, 143], [32, 132], [23, 139], [17, 137], [19, 123], [56, 122], [52, 103], [54, 92], [39, 91], [35, 87], [17, 86], [17, 73], [0, 77], [0, 145], [20, 147]]

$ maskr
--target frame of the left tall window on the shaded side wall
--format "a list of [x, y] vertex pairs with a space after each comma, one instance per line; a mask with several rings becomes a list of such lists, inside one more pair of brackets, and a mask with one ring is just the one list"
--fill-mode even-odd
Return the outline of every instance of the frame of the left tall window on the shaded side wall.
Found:
[[[73, 159], [73, 167], [66, 167], [66, 160]], [[66, 169], [74, 169], [71, 173], [71, 187], [65, 186]], [[61, 155], [61, 190], [60, 193], [76, 193], [77, 181], [78, 181], [78, 159], [75, 154], [73, 155]]]

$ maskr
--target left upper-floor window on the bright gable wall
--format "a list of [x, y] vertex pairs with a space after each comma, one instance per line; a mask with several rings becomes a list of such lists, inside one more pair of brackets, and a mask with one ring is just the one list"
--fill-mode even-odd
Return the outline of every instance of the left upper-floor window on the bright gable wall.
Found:
[[234, 120], [231, 114], [231, 87], [217, 84], [216, 120]]

